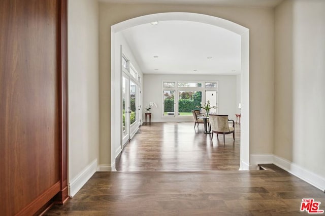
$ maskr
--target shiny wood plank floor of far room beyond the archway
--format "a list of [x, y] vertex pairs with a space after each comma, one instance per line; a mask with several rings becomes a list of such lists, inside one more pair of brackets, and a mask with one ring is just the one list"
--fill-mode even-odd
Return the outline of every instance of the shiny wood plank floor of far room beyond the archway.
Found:
[[117, 171], [238, 170], [240, 126], [233, 135], [204, 134], [203, 124], [192, 122], [153, 122], [142, 125], [116, 159]]

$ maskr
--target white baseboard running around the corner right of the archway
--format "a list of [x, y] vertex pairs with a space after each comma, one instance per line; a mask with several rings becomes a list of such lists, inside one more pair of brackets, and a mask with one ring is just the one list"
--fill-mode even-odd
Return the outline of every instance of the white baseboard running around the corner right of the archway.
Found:
[[284, 158], [278, 157], [274, 154], [251, 154], [250, 155], [250, 166], [252, 169], [257, 166], [257, 164], [263, 163], [273, 163], [278, 167], [284, 169], [290, 174], [298, 177], [299, 179], [311, 184], [312, 186], [325, 192], [325, 178], [299, 166], [296, 163], [288, 161]]

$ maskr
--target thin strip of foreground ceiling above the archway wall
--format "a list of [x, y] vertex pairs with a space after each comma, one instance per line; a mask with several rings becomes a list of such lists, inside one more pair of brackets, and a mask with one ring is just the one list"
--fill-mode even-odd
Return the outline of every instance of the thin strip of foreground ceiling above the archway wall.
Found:
[[222, 5], [235, 7], [263, 7], [274, 8], [283, 0], [100, 0], [109, 3], [132, 4], [187, 4], [187, 5]]

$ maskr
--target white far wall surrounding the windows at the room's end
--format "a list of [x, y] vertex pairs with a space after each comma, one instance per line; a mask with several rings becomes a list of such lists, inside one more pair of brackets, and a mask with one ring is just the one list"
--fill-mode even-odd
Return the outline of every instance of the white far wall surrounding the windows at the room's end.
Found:
[[[218, 109], [219, 114], [228, 114], [230, 119], [235, 119], [236, 112], [236, 75], [171, 75], [171, 74], [145, 74], [144, 75], [144, 106], [149, 102], [157, 104], [151, 108], [152, 121], [193, 121], [193, 117], [162, 117], [163, 114], [163, 81], [219, 81]], [[204, 94], [204, 92], [202, 93]], [[144, 115], [145, 109], [143, 110]]]

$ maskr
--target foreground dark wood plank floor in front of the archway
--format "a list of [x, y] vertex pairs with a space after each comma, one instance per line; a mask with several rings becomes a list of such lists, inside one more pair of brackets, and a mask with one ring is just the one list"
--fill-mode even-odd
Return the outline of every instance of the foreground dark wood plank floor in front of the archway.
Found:
[[96, 172], [45, 215], [298, 215], [325, 194], [285, 171]]

